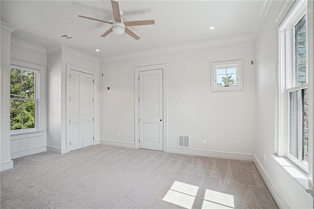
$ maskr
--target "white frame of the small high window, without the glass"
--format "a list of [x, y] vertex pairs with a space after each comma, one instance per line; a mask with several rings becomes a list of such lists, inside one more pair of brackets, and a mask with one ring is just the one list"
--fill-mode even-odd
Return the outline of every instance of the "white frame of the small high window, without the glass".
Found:
[[[229, 86], [219, 86], [217, 85], [217, 70], [219, 69], [236, 69], [236, 85]], [[242, 90], [243, 89], [243, 61], [242, 59], [231, 60], [231, 61], [221, 61], [221, 62], [211, 62], [210, 63], [211, 71], [211, 91], [228, 91], [228, 90]]]

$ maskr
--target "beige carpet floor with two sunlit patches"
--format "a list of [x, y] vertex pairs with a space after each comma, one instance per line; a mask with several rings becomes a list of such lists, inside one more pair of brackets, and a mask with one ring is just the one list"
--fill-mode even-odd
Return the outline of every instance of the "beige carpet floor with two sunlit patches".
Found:
[[115, 146], [14, 159], [1, 209], [277, 209], [253, 162]]

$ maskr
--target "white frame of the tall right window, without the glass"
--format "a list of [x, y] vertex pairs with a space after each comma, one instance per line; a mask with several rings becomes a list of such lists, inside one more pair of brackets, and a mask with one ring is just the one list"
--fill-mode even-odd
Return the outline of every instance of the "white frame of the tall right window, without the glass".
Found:
[[[296, 70], [296, 33], [295, 26], [305, 16], [306, 21], [306, 83], [298, 84], [297, 70]], [[299, 1], [296, 2], [294, 8], [289, 11], [286, 18], [278, 26], [279, 32], [279, 73], [278, 73], [278, 96], [277, 103], [279, 104], [278, 114], [278, 150], [275, 150], [279, 157], [287, 157], [296, 166], [302, 169], [304, 172], [309, 172], [309, 163], [303, 161], [302, 149], [303, 149], [303, 138], [302, 138], [302, 119], [303, 119], [303, 107], [298, 108], [298, 158], [289, 154], [289, 143], [290, 143], [290, 92], [297, 91], [299, 105], [302, 102], [302, 90], [308, 89], [309, 86], [309, 74], [308, 74], [308, 15], [307, 15], [307, 2]], [[300, 125], [302, 124], [302, 125]], [[308, 138], [309, 144], [310, 137]], [[275, 145], [276, 146], [276, 145]], [[308, 149], [309, 151], [309, 149]], [[308, 153], [309, 155], [309, 153]]]

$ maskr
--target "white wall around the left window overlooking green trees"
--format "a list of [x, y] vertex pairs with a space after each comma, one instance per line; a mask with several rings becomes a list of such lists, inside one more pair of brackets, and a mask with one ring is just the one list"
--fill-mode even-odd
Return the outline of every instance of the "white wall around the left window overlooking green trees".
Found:
[[[11, 59], [43, 66], [43, 79], [40, 79], [40, 132], [11, 134], [11, 157], [22, 157], [46, 151], [46, 69], [47, 52], [43, 48], [11, 39]], [[23, 140], [26, 144], [23, 144]]]

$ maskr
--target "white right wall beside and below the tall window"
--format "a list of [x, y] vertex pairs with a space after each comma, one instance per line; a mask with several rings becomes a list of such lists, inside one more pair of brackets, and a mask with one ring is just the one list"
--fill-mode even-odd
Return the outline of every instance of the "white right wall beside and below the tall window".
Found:
[[255, 155], [268, 179], [273, 183], [273, 188], [269, 189], [277, 190], [289, 208], [313, 208], [311, 195], [271, 156], [274, 154], [276, 140], [275, 86], [278, 32], [275, 21], [284, 3], [285, 1], [272, 1], [255, 41], [257, 110]]

